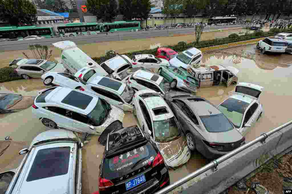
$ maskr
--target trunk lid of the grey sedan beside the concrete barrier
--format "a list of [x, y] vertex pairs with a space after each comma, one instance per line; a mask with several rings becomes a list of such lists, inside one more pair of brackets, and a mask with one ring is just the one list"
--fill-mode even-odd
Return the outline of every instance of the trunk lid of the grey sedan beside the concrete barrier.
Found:
[[237, 131], [237, 129], [232, 129], [230, 131], [225, 131], [221, 133], [209, 133], [207, 132], [206, 140], [208, 142], [214, 143], [232, 143], [242, 139], [242, 135]]

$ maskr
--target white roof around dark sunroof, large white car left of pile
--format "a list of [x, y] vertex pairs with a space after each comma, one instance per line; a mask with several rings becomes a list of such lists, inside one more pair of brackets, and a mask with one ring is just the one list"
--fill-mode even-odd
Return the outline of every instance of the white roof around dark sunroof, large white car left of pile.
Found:
[[[72, 91], [74, 91], [74, 93], [70, 93]], [[88, 100], [86, 99], [87, 100], [86, 102], [82, 102], [82, 106], [86, 106], [85, 109], [78, 108], [77, 106], [73, 106], [73, 103], [74, 103], [73, 100], [71, 101], [72, 102], [71, 105], [70, 104], [65, 104], [65, 103], [62, 102], [64, 99], [68, 99], [70, 97], [72, 99], [72, 97], [74, 95], [76, 95], [76, 92], [81, 93], [82, 96], [85, 96], [85, 95], [88, 96]], [[90, 99], [91, 99], [91, 101], [90, 101]], [[62, 106], [71, 108], [73, 110], [77, 110], [77, 111], [79, 111], [79, 112], [81, 112], [83, 114], [86, 114], [86, 115], [92, 111], [92, 109], [97, 104], [98, 99], [99, 99], [98, 97], [90, 95], [90, 94], [88, 94], [86, 92], [81, 92], [80, 90], [74, 90], [74, 89], [66, 88], [66, 87], [57, 87], [45, 97], [46, 103], [60, 104]], [[86, 103], [86, 104], [84, 104], [84, 103]]]

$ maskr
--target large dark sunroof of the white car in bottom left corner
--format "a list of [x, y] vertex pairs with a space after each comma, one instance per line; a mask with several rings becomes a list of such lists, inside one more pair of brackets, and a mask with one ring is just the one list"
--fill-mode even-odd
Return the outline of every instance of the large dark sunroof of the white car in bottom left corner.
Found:
[[70, 147], [40, 149], [34, 158], [26, 181], [66, 175], [69, 168]]

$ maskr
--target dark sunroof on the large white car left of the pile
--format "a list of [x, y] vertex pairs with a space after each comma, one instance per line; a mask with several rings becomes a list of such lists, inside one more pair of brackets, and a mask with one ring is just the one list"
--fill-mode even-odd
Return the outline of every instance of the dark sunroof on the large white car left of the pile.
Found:
[[85, 110], [92, 99], [92, 96], [72, 90], [61, 102]]

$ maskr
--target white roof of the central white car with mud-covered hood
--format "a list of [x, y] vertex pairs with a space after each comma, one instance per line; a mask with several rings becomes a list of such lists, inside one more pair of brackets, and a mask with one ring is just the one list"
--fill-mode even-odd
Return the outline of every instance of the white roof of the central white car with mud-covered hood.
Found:
[[[166, 104], [166, 102], [163, 100], [161, 96], [147, 97], [147, 98], [144, 98], [144, 101], [147, 107], [150, 109], [150, 113], [152, 115], [153, 121], [165, 120], [165, 119], [173, 117], [172, 111], [170, 110], [170, 108], [168, 107], [168, 105]], [[153, 109], [160, 108], [160, 107], [165, 107], [168, 113], [154, 115]]]

